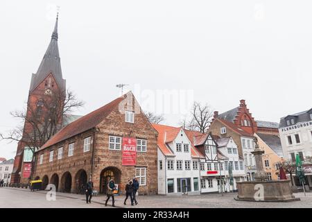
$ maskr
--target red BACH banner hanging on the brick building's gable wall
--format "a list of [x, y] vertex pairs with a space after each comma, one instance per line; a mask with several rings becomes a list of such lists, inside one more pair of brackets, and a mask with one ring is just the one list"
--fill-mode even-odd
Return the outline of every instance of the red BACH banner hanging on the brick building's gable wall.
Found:
[[123, 166], [135, 166], [137, 164], [137, 139], [123, 137]]

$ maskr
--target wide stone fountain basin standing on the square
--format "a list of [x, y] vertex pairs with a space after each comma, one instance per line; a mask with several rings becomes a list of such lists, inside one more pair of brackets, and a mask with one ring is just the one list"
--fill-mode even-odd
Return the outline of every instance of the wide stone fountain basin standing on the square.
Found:
[[256, 202], [289, 202], [300, 200], [300, 198], [293, 196], [290, 182], [291, 180], [237, 182], [239, 194], [234, 199]]

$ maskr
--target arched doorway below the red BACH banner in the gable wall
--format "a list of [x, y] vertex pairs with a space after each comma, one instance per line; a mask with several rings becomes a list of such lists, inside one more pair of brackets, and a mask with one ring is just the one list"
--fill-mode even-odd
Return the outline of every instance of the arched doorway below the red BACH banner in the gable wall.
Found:
[[107, 167], [101, 172], [100, 178], [100, 192], [101, 194], [106, 194], [107, 192], [107, 183], [110, 180], [114, 180], [115, 184], [121, 182], [121, 171], [117, 167]]

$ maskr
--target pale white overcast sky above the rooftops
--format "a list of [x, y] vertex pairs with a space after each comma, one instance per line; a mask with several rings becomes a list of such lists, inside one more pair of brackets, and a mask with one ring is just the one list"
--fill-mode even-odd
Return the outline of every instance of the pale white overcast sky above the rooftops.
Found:
[[[219, 112], [245, 99], [255, 119], [277, 122], [312, 106], [311, 1], [1, 0], [0, 132], [18, 124], [10, 111], [26, 105], [55, 6], [63, 78], [86, 102], [77, 114], [115, 99], [119, 83], [155, 112], [165, 110], [159, 92], [177, 92], [182, 108], [164, 111], [171, 125], [193, 99]], [[16, 147], [0, 142], [0, 157]]]

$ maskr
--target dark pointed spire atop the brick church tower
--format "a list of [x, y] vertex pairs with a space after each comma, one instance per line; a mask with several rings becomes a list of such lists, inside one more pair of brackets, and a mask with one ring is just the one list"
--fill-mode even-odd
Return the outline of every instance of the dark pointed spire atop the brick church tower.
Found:
[[66, 81], [62, 78], [62, 68], [60, 64], [60, 53], [58, 51], [58, 14], [56, 16], [54, 30], [51, 36], [51, 42], [44, 53], [44, 58], [42, 59], [40, 66], [36, 74], [33, 74], [31, 78], [31, 88], [32, 92], [42, 81], [52, 74], [55, 78], [58, 87], [61, 90], [66, 89]]

